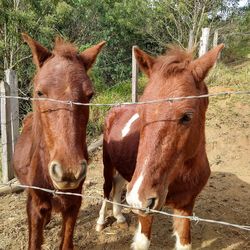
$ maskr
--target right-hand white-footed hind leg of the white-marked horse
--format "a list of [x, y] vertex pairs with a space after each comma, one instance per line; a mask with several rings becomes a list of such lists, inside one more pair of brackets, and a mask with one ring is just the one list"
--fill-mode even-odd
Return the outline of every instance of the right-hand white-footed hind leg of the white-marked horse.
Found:
[[[121, 196], [124, 184], [126, 180], [118, 173], [113, 179], [113, 201], [116, 203], [121, 203]], [[113, 215], [117, 220], [118, 224], [123, 225], [126, 223], [126, 218], [123, 216], [122, 207], [118, 204], [113, 204]]]

